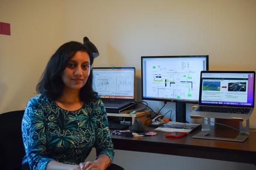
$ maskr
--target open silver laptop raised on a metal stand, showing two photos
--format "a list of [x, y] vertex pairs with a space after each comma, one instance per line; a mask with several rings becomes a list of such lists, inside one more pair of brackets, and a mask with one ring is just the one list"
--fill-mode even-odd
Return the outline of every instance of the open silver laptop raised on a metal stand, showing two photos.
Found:
[[202, 71], [199, 103], [190, 117], [248, 120], [254, 108], [254, 71]]

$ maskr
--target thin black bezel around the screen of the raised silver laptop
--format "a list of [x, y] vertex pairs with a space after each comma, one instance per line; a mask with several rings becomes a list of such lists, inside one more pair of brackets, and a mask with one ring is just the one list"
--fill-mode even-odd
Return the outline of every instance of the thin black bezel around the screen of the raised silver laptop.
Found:
[[[202, 95], [202, 83], [203, 81], [201, 81], [202, 79], [202, 73], [248, 73], [248, 74], [254, 74], [253, 77], [253, 102], [251, 106], [247, 106], [247, 105], [224, 105], [224, 104], [205, 104], [205, 103], [201, 103], [201, 95]], [[206, 105], [206, 106], [225, 106], [225, 107], [247, 107], [247, 108], [253, 108], [254, 107], [254, 97], [255, 97], [255, 71], [201, 71], [201, 75], [200, 75], [200, 88], [199, 88], [199, 101], [198, 104], [199, 105]]]

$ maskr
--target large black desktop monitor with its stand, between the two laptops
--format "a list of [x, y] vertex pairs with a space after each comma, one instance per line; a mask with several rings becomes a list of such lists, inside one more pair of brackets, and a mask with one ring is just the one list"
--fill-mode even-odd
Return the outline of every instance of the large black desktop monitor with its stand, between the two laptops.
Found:
[[186, 103], [198, 103], [200, 73], [209, 56], [142, 56], [142, 99], [176, 102], [176, 121], [186, 122]]

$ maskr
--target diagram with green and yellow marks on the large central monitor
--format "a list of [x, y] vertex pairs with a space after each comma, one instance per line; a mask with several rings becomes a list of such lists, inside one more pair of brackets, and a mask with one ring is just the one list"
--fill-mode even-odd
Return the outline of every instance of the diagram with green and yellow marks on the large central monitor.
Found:
[[[160, 98], [196, 100], [199, 91], [199, 75], [202, 68], [191, 68], [189, 62], [177, 62], [176, 67], [170, 68], [164, 62], [162, 64], [147, 65], [151, 72], [147, 81], [151, 81], [147, 87], [149, 96]], [[181, 68], [181, 69], [180, 69]], [[178, 71], [179, 70], [179, 71]]]

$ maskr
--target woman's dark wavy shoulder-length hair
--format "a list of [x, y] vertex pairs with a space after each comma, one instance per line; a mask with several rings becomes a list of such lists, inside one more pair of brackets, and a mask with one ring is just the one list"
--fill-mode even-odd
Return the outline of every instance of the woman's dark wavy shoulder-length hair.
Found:
[[[38, 94], [43, 94], [52, 100], [58, 99], [63, 92], [64, 83], [62, 81], [62, 73], [65, 70], [68, 61], [76, 52], [86, 52], [90, 56], [90, 65], [93, 63], [93, 54], [87, 46], [76, 41], [70, 41], [61, 45], [57, 51], [51, 56], [45, 70], [41, 76], [41, 80], [36, 86]], [[92, 73], [90, 73], [84, 87], [80, 90], [80, 99], [86, 103], [97, 99], [97, 92], [92, 89]]]

